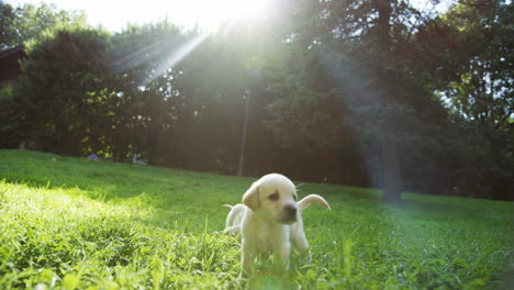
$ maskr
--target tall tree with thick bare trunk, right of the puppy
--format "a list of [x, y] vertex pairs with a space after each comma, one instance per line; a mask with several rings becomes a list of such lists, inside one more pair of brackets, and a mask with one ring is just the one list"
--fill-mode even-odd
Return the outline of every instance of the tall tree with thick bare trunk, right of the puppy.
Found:
[[[294, 27], [290, 34], [320, 56], [331, 75], [321, 83], [332, 78], [351, 114], [347, 122], [355, 125], [361, 143], [369, 144], [360, 152], [373, 186], [383, 188], [384, 200], [398, 201], [406, 158], [399, 148], [406, 149], [417, 138], [413, 124], [433, 121], [431, 115], [442, 112], [417, 80], [416, 67], [410, 66], [420, 49], [414, 35], [429, 18], [404, 1], [328, 1], [308, 7], [299, 7], [294, 14], [310, 26]], [[417, 122], [405, 124], [405, 120]]]

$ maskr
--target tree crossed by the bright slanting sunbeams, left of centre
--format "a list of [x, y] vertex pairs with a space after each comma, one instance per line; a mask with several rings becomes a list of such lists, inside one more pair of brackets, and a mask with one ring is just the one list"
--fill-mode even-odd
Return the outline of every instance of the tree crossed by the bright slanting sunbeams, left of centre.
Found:
[[116, 130], [112, 132], [116, 159], [135, 154], [150, 164], [169, 163], [180, 70], [163, 64], [169, 63], [187, 38], [167, 21], [128, 25], [112, 37], [109, 59], [114, 79], [110, 87], [120, 94], [114, 105]]

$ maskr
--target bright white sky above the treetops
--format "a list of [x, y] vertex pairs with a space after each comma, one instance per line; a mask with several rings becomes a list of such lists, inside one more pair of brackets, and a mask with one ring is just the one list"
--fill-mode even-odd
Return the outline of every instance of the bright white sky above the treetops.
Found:
[[[176, 25], [214, 31], [222, 21], [252, 16], [270, 7], [272, 0], [4, 0], [18, 7], [24, 3], [38, 5], [55, 3], [64, 10], [83, 10], [91, 25], [102, 25], [120, 32], [127, 23], [144, 24], [167, 18]], [[420, 9], [431, 7], [429, 0], [411, 0]], [[442, 2], [448, 2], [443, 0]], [[443, 4], [444, 5], [444, 4]], [[439, 5], [440, 7], [440, 5]]]

